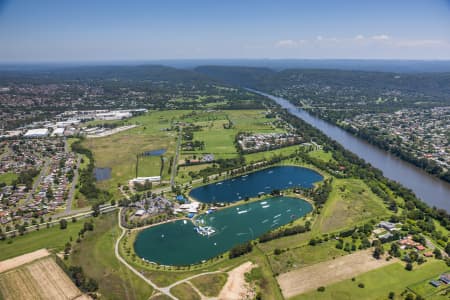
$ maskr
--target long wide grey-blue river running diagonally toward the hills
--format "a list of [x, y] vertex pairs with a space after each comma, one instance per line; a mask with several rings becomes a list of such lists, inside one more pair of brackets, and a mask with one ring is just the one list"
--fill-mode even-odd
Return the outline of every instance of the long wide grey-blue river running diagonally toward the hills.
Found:
[[323, 121], [296, 107], [288, 100], [252, 90], [277, 102], [294, 116], [318, 128], [346, 149], [352, 151], [366, 162], [383, 171], [384, 176], [400, 182], [411, 189], [420, 199], [430, 206], [450, 211], [450, 184], [444, 182], [414, 165], [381, 150], [347, 131]]

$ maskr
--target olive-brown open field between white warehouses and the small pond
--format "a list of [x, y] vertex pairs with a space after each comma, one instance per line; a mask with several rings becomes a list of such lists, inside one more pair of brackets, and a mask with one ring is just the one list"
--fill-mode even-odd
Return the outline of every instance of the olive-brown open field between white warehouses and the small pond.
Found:
[[[117, 184], [127, 184], [136, 176], [136, 155], [146, 151], [166, 149], [163, 179], [168, 180], [170, 158], [175, 156], [178, 133], [167, 131], [186, 111], [151, 111], [131, 118], [129, 124], [136, 128], [103, 138], [86, 139], [84, 145], [91, 149], [96, 167], [111, 168], [111, 179], [98, 185], [116, 192]], [[138, 176], [159, 176], [161, 158], [147, 156], [139, 160]]]

